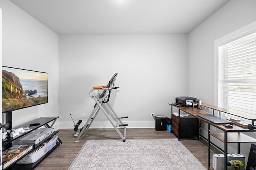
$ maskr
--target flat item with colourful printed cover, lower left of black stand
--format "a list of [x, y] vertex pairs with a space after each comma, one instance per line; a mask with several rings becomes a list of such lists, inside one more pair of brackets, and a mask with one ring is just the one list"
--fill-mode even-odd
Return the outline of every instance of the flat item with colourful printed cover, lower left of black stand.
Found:
[[21, 156], [32, 150], [32, 145], [14, 145], [3, 151], [3, 169], [18, 160]]

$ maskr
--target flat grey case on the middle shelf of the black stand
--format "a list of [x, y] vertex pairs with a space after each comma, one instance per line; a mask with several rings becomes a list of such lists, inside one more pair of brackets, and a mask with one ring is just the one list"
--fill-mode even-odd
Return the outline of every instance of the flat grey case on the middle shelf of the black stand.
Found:
[[54, 132], [53, 128], [36, 129], [19, 140], [19, 145], [36, 145]]

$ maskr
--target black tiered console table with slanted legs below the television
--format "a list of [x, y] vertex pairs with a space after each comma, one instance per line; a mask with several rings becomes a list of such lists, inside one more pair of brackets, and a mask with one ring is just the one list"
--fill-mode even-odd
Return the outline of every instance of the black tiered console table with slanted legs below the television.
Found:
[[[40, 127], [45, 127], [45, 128], [52, 128], [54, 123], [56, 122], [56, 120], [58, 119], [58, 117], [39, 117], [37, 119], [34, 119], [32, 121], [29, 121], [27, 123], [24, 123], [22, 125], [19, 125], [17, 127], [14, 127], [12, 129], [18, 129], [20, 127], [26, 128], [29, 127], [30, 131], [25, 132], [23, 134], [17, 135], [16, 137], [10, 137], [10, 135], [8, 135], [6, 137], [6, 139], [4, 139], [2, 141], [2, 145], [3, 145], [3, 150], [6, 150], [8, 148], [10, 148], [12, 145], [18, 145], [18, 139], [20, 139], [21, 137], [24, 137], [26, 135], [28, 135], [30, 132], [40, 128]], [[36, 126], [30, 126], [31, 123], [40, 123], [40, 125], [36, 125]], [[52, 137], [53, 135], [56, 135], [56, 133], [58, 133], [58, 131], [54, 131], [54, 133], [52, 133], [51, 135], [49, 135], [44, 141], [46, 141], [47, 139], [49, 139], [50, 137]], [[41, 141], [40, 143], [38, 143], [37, 145], [33, 145], [33, 149], [30, 150], [30, 152], [32, 152], [33, 150], [35, 150], [39, 145], [41, 145], [42, 143], [44, 143], [44, 141]], [[62, 144], [62, 141], [58, 138], [56, 145], [49, 151], [47, 152], [44, 156], [42, 156], [38, 161], [32, 163], [32, 164], [15, 164], [16, 162], [18, 162], [18, 160], [20, 160], [21, 158], [23, 158], [24, 156], [26, 156], [26, 154], [30, 153], [26, 153], [23, 156], [21, 156], [18, 160], [16, 160], [14, 163], [12, 163], [10, 166], [6, 167], [5, 169], [33, 169], [34, 167], [36, 167], [40, 162], [42, 162], [42, 160], [44, 160], [44, 158], [46, 158], [46, 156], [48, 156], [54, 149], [56, 149], [59, 145]]]

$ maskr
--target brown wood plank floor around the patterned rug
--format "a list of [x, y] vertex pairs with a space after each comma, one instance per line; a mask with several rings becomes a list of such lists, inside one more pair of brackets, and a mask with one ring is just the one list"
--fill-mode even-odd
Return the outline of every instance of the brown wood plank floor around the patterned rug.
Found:
[[[83, 147], [86, 140], [112, 139], [121, 140], [119, 135], [113, 129], [89, 129], [84, 131], [78, 143], [73, 137], [73, 129], [59, 129], [57, 133], [62, 145], [57, 147], [47, 158], [45, 158], [35, 170], [67, 170], [76, 155]], [[121, 131], [122, 133], [122, 131]], [[122, 133], [123, 134], [123, 133]], [[126, 131], [126, 139], [169, 139], [176, 136], [168, 131], [156, 131], [154, 128], [128, 128]], [[200, 138], [197, 139], [181, 139], [180, 140], [196, 158], [207, 168], [208, 166], [208, 147], [207, 142]], [[221, 153], [219, 150], [211, 147], [211, 155]], [[212, 160], [211, 160], [212, 162]]]

